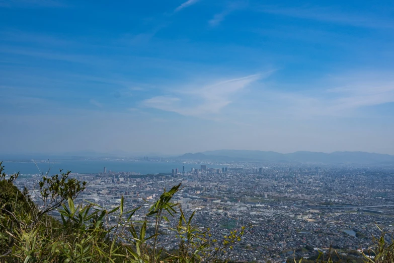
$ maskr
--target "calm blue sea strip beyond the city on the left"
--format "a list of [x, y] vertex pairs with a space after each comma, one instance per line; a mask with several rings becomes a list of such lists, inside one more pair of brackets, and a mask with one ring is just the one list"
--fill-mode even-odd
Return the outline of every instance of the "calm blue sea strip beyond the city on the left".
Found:
[[[36, 166], [37, 164], [37, 166]], [[178, 168], [182, 172], [183, 165], [185, 171], [191, 168], [200, 169], [200, 164], [180, 163], [180, 162], [129, 162], [129, 161], [107, 161], [107, 160], [51, 160], [48, 167], [47, 162], [4, 162], [4, 171], [7, 174], [20, 172], [21, 174], [41, 174], [46, 173], [50, 167], [49, 174], [71, 171], [72, 173], [89, 174], [100, 173], [106, 167], [107, 172], [135, 172], [140, 174], [171, 173], [172, 169]], [[211, 168], [221, 168], [207, 166]]]

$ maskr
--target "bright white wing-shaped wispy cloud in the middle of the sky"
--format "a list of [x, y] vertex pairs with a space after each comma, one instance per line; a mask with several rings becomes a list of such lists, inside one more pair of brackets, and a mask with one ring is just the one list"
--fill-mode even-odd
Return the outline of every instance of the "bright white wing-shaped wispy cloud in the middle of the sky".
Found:
[[208, 117], [219, 114], [232, 102], [231, 96], [263, 74], [216, 82], [204, 87], [180, 90], [175, 96], [156, 96], [142, 101], [142, 106], [176, 112], [185, 116]]

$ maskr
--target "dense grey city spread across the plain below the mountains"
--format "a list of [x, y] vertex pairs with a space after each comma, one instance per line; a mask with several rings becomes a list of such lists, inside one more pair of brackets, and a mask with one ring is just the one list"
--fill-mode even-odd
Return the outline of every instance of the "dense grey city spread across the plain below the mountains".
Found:
[[[144, 157], [140, 161], [148, 164], [151, 160]], [[380, 235], [376, 224], [385, 231], [394, 230], [392, 167], [187, 162], [196, 168], [174, 167], [142, 175], [102, 167], [97, 174], [70, 175], [88, 182], [77, 202], [112, 208], [123, 195], [127, 209], [142, 206], [133, 216], [137, 221], [143, 220], [149, 202], [164, 188], [182, 183], [174, 202], [189, 216], [196, 211], [194, 223], [201, 229], [210, 228], [213, 237], [220, 239], [231, 229], [253, 226], [224, 255], [234, 261], [283, 262], [294, 254], [308, 258], [330, 247], [339, 254], [360, 257], [360, 249], [371, 244], [372, 235]], [[27, 186], [33, 200], [39, 202], [34, 189], [41, 177], [21, 175], [16, 185], [21, 189]], [[115, 222], [116, 217], [109, 220]], [[169, 231], [171, 224], [164, 222], [164, 231]], [[165, 249], [176, 248], [172, 236], [161, 239]]]

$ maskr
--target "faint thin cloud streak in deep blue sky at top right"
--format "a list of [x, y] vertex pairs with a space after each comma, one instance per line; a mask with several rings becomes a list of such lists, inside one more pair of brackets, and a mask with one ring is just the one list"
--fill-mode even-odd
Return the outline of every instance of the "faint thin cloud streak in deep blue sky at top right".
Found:
[[350, 25], [368, 28], [394, 28], [391, 19], [370, 17], [367, 14], [350, 14], [330, 7], [294, 7], [261, 6], [259, 12], [276, 14], [300, 19]]

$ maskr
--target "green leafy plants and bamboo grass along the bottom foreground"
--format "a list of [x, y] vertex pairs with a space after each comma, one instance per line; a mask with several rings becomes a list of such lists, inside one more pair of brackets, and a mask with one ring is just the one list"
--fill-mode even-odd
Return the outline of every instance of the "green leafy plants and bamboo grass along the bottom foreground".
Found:
[[[143, 221], [132, 220], [140, 208], [125, 211], [123, 197], [111, 211], [93, 203], [76, 205], [74, 200], [86, 183], [68, 175], [43, 176], [37, 186], [44, 204], [39, 209], [28, 191], [21, 192], [13, 184], [18, 174], [6, 180], [0, 163], [0, 262], [222, 262], [227, 251], [250, 230], [241, 227], [223, 233], [221, 240], [213, 239], [209, 228], [193, 225], [195, 213], [186, 218], [171, 202], [181, 184], [165, 189], [159, 200], [151, 203]], [[54, 210], [60, 213], [60, 222], [48, 215]], [[111, 223], [109, 216], [116, 216], [117, 221]], [[176, 221], [170, 224], [172, 220]], [[160, 237], [164, 234], [177, 241], [177, 249], [163, 249]], [[380, 238], [373, 239], [368, 253], [375, 258], [363, 254], [364, 262], [394, 262], [393, 244], [385, 243], [385, 234], [382, 231]], [[320, 253], [313, 262], [333, 263], [341, 258], [336, 252]], [[289, 262], [293, 261], [311, 260]]]

